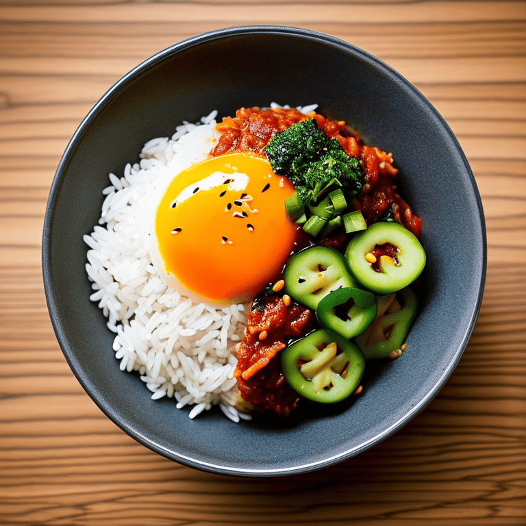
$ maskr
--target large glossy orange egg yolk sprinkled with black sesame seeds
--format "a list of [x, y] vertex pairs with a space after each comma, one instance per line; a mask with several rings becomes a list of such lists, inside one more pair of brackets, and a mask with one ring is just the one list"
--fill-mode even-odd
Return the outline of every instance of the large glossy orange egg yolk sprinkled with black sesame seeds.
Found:
[[293, 192], [266, 160], [240, 153], [182, 171], [155, 216], [164, 270], [211, 303], [253, 299], [294, 248], [284, 205]]

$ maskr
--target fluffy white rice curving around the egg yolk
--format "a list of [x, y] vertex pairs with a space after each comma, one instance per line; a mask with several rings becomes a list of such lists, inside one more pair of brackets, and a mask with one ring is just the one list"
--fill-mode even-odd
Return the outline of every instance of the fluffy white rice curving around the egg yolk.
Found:
[[149, 140], [139, 163], [127, 164], [122, 177], [110, 173], [99, 225], [84, 236], [90, 247], [86, 272], [94, 290], [90, 299], [116, 334], [121, 371], [138, 371], [154, 400], [173, 397], [179, 409], [193, 405], [190, 418], [219, 405], [238, 422], [250, 418], [234, 407], [234, 347], [243, 338], [249, 303], [222, 309], [192, 303], [164, 283], [149, 255], [149, 225], [162, 191], [175, 174], [207, 158], [219, 136], [216, 115], [184, 122], [171, 138]]

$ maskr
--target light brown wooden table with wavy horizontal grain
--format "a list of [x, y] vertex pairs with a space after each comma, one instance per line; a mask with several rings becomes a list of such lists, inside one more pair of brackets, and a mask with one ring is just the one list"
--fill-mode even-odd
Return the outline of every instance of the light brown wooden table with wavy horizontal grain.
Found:
[[[0, 1], [2, 525], [524, 525], [525, 1]], [[119, 77], [231, 25], [331, 34], [413, 82], [451, 125], [481, 192], [488, 277], [460, 365], [374, 449], [305, 476], [238, 479], [166, 460], [118, 429], [55, 340], [40, 271], [66, 144]]]

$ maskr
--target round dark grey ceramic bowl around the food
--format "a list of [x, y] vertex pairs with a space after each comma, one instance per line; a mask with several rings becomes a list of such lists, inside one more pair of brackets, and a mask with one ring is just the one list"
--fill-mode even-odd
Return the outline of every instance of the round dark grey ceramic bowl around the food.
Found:
[[[251, 105], [318, 103], [368, 144], [392, 151], [400, 186], [423, 217], [427, 295], [401, 360], [381, 364], [364, 395], [290, 421], [234, 424], [219, 412], [190, 420], [173, 400], [152, 401], [123, 373], [113, 334], [90, 303], [89, 234], [108, 173], [138, 159], [150, 138], [183, 120]], [[459, 256], [462, 255], [460, 258]], [[53, 327], [90, 397], [130, 436], [181, 464], [233, 475], [285, 475], [329, 466], [372, 447], [421, 411], [466, 347], [486, 272], [484, 216], [466, 158], [438, 112], [401, 75], [345, 42], [286, 27], [239, 27], [190, 38], [118, 81], [71, 139], [58, 166], [43, 237]], [[327, 408], [322, 408], [326, 410]]]

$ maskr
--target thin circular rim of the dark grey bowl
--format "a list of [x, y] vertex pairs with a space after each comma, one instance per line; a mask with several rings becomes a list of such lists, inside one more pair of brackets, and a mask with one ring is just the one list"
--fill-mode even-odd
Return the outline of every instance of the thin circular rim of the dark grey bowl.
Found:
[[[64, 329], [62, 328], [62, 321], [60, 320], [60, 316], [58, 314], [58, 301], [55, 297], [55, 287], [53, 285], [53, 281], [51, 279], [51, 225], [53, 223], [53, 216], [55, 213], [55, 201], [58, 197], [58, 193], [60, 192], [60, 187], [62, 186], [62, 181], [65, 177], [66, 168], [71, 161], [72, 156], [75, 153], [75, 149], [77, 148], [77, 144], [79, 140], [82, 140], [82, 136], [86, 132], [86, 129], [90, 126], [92, 121], [95, 119], [95, 117], [101, 112], [101, 110], [105, 107], [105, 104], [116, 95], [116, 93], [126, 84], [129, 82], [133, 82], [133, 80], [138, 76], [142, 75], [145, 71], [147, 71], [149, 68], [152, 68], [162, 60], [165, 60], [166, 58], [169, 58], [171, 55], [174, 55], [176, 53], [179, 53], [181, 51], [184, 51], [185, 49], [188, 49], [190, 47], [195, 47], [197, 45], [200, 45], [201, 43], [210, 42], [212, 40], [218, 40], [221, 38], [229, 38], [231, 36], [240, 36], [240, 35], [248, 35], [248, 34], [284, 34], [288, 36], [293, 37], [299, 37], [299, 38], [305, 38], [306, 40], [311, 41], [318, 41], [325, 44], [329, 44], [334, 47], [338, 47], [342, 49], [342, 51], [345, 52], [351, 52], [354, 55], [358, 55], [360, 60], [364, 60], [368, 64], [372, 64], [376, 68], [379, 68], [382, 73], [388, 75], [388, 77], [391, 77], [392, 79], [395, 79], [395, 82], [397, 84], [401, 84], [406, 90], [409, 90], [412, 92], [412, 95], [416, 96], [418, 99], [420, 99], [421, 103], [427, 107], [427, 110], [430, 110], [434, 117], [440, 122], [440, 125], [444, 129], [444, 132], [447, 132], [447, 135], [449, 136], [449, 140], [451, 140], [453, 147], [457, 151], [460, 159], [462, 160], [464, 164], [464, 170], [466, 174], [468, 175], [468, 183], [471, 185], [471, 188], [473, 189], [473, 195], [475, 197], [475, 203], [477, 205], [477, 211], [478, 211], [478, 219], [479, 219], [479, 226], [481, 229], [481, 240], [483, 242], [482, 247], [482, 255], [483, 260], [481, 262], [481, 275], [479, 277], [479, 287], [478, 287], [478, 294], [477, 294], [477, 301], [476, 305], [474, 305], [473, 308], [473, 314], [471, 316], [471, 319], [469, 320], [468, 327], [466, 328], [466, 331], [464, 333], [464, 336], [462, 338], [461, 345], [456, 349], [455, 354], [453, 355], [452, 360], [448, 363], [447, 367], [445, 367], [442, 370], [442, 374], [432, 386], [432, 388], [429, 388], [427, 391], [427, 394], [423, 399], [421, 399], [418, 403], [415, 403], [412, 408], [406, 412], [401, 418], [399, 418], [398, 421], [390, 425], [390, 427], [383, 429], [380, 433], [377, 433], [373, 438], [367, 440], [366, 442], [363, 442], [362, 444], [358, 444], [355, 447], [352, 447], [351, 449], [347, 449], [346, 451], [343, 451], [342, 453], [338, 453], [337, 455], [333, 455], [329, 458], [325, 458], [323, 460], [319, 460], [316, 462], [306, 462], [304, 464], [297, 464], [295, 466], [291, 467], [285, 467], [285, 468], [268, 468], [268, 469], [262, 469], [262, 468], [237, 468], [234, 466], [225, 466], [221, 464], [214, 464], [213, 462], [203, 462], [202, 460], [198, 460], [197, 458], [192, 458], [188, 455], [182, 455], [181, 453], [177, 453], [175, 451], [168, 450], [160, 444], [157, 444], [149, 438], [142, 436], [140, 433], [136, 432], [134, 429], [130, 429], [125, 425], [123, 422], [121, 422], [117, 416], [112, 411], [112, 408], [108, 407], [100, 398], [99, 398], [99, 389], [95, 384], [92, 384], [92, 381], [90, 379], [84, 377], [82, 374], [79, 373], [79, 364], [77, 362], [77, 359], [75, 358], [75, 353], [73, 353], [73, 350], [68, 344], [68, 341], [66, 338], [64, 338]], [[60, 159], [60, 162], [58, 164], [58, 168], [55, 171], [55, 176], [53, 177], [53, 181], [51, 183], [50, 191], [49, 191], [49, 198], [47, 201], [47, 207], [45, 210], [45, 219], [43, 223], [43, 231], [42, 231], [42, 277], [44, 281], [44, 288], [45, 288], [45, 297], [47, 301], [47, 307], [49, 311], [49, 315], [51, 318], [51, 324], [53, 325], [53, 330], [55, 331], [55, 336], [58, 340], [58, 343], [60, 345], [60, 348], [62, 349], [62, 352], [64, 353], [64, 357], [66, 358], [66, 362], [68, 362], [68, 365], [70, 366], [71, 370], [73, 371], [73, 374], [75, 377], [77, 377], [79, 383], [82, 385], [84, 390], [88, 393], [90, 398], [95, 402], [95, 404], [102, 410], [102, 412], [110, 418], [110, 420], [115, 423], [118, 427], [123, 429], [126, 434], [134, 438], [137, 442], [144, 445], [145, 447], [148, 447], [152, 451], [155, 451], [156, 453], [170, 459], [174, 460], [175, 462], [179, 462], [180, 464], [183, 464], [185, 466], [190, 466], [192, 468], [199, 469], [201, 471], [208, 471], [211, 473], [218, 473], [222, 475], [240, 475], [240, 476], [247, 476], [247, 477], [258, 477], [258, 476], [264, 476], [264, 477], [271, 477], [271, 476], [277, 476], [277, 475], [295, 475], [299, 473], [307, 473], [309, 471], [315, 471], [321, 468], [325, 468], [334, 464], [337, 464], [339, 462], [342, 462], [344, 460], [347, 460], [349, 458], [352, 458], [355, 455], [358, 455], [359, 453], [362, 453], [366, 449], [370, 449], [375, 444], [378, 444], [379, 442], [382, 442], [383, 440], [386, 440], [389, 436], [394, 434], [396, 431], [401, 429], [406, 423], [408, 423], [416, 414], [421, 412], [426, 405], [431, 402], [434, 397], [438, 394], [442, 386], [444, 386], [445, 382], [453, 373], [455, 367], [458, 365], [458, 362], [460, 361], [460, 358], [462, 357], [462, 354], [464, 353], [464, 350], [466, 349], [466, 346], [468, 344], [468, 340], [471, 338], [471, 334], [473, 333], [473, 329], [475, 327], [475, 323], [477, 321], [477, 316], [479, 314], [479, 310], [481, 307], [481, 301], [484, 294], [484, 284], [486, 279], [486, 268], [487, 268], [487, 240], [486, 240], [486, 224], [485, 224], [485, 218], [484, 218], [484, 209], [482, 207], [481, 197], [479, 194], [479, 190], [477, 188], [477, 184], [475, 181], [475, 177], [473, 176], [473, 173], [471, 171], [471, 167], [468, 164], [468, 161], [466, 159], [466, 156], [464, 154], [464, 151], [462, 151], [462, 148], [460, 147], [460, 144], [451, 131], [449, 125], [447, 125], [446, 121], [444, 121], [444, 118], [438, 113], [436, 108], [427, 100], [426, 97], [412, 84], [410, 83], [403, 75], [398, 73], [395, 69], [393, 69], [391, 66], [386, 64], [385, 62], [381, 61], [379, 58], [376, 58], [374, 55], [371, 55], [371, 53], [368, 53], [367, 51], [364, 51], [363, 49], [360, 49], [359, 47], [356, 47], [355, 45], [350, 44], [349, 42], [345, 42], [345, 40], [340, 40], [339, 38], [336, 38], [334, 36], [329, 36], [327, 34], [323, 34], [320, 32], [315, 32], [310, 29], [303, 29], [299, 27], [288, 27], [288, 26], [281, 26], [281, 25], [243, 25], [243, 26], [231, 26], [231, 27], [225, 27], [223, 29], [214, 29], [210, 32], [204, 32], [202, 34], [198, 34], [196, 36], [192, 36], [190, 38], [186, 38], [184, 40], [181, 40], [180, 42], [177, 42], [174, 45], [171, 45], [165, 49], [162, 49], [161, 51], [158, 51], [157, 53], [151, 55], [146, 60], [143, 60], [132, 68], [128, 73], [123, 75], [120, 79], [118, 79], [103, 95], [102, 97], [93, 105], [91, 110], [86, 114], [86, 116], [83, 118], [82, 122], [79, 124], [77, 129], [75, 130], [75, 133], [73, 134], [71, 140], [69, 140], [68, 145], [66, 146], [66, 149], [64, 150], [64, 153], [62, 154], [62, 157]]]

